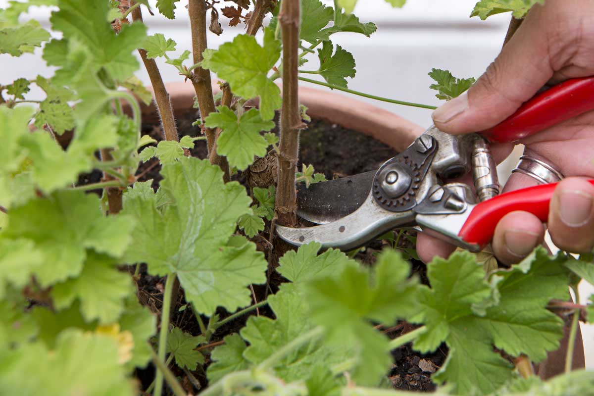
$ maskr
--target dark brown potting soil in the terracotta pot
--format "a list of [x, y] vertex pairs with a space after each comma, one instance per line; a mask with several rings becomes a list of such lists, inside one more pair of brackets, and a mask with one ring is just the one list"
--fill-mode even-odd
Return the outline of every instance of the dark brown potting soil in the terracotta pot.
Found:
[[[277, 115], [278, 116], [278, 115]], [[191, 111], [185, 115], [178, 117], [176, 120], [178, 125], [179, 136], [189, 135], [191, 137], [200, 136], [200, 127], [192, 126], [192, 123], [197, 119], [198, 112]], [[278, 134], [277, 130], [273, 132]], [[163, 139], [163, 131], [160, 125], [143, 124], [143, 135], [150, 135], [157, 141]], [[315, 171], [324, 173], [327, 179], [333, 179], [343, 176], [354, 175], [356, 173], [366, 172], [368, 170], [377, 169], [385, 160], [394, 156], [396, 152], [387, 145], [368, 137], [361, 132], [352, 131], [343, 128], [342, 126], [329, 123], [327, 121], [316, 119], [308, 123], [307, 129], [301, 132], [300, 141], [300, 159], [302, 163], [312, 164]], [[207, 148], [206, 141], [196, 141], [195, 147], [191, 150], [191, 155], [201, 159], [206, 158]], [[299, 164], [301, 169], [301, 163]], [[159, 181], [162, 179], [159, 175], [160, 165], [156, 159], [151, 159], [147, 163], [141, 164], [138, 173], [142, 174], [141, 181], [153, 179], [153, 187], [157, 188]], [[97, 182], [99, 181], [100, 173], [93, 173], [92, 175], [81, 176], [80, 182]], [[233, 176], [233, 179], [246, 185], [245, 174], [239, 172]], [[264, 235], [268, 235], [268, 226], [264, 230]], [[405, 238], [401, 238], [400, 247], [411, 248], [414, 247]], [[265, 250], [266, 243], [263, 238], [258, 236], [253, 239], [257, 244], [258, 249]], [[380, 251], [383, 244], [380, 240], [370, 243], [364, 250], [356, 255], [360, 261], [365, 264], [372, 264], [375, 261], [375, 253]], [[425, 265], [418, 261], [412, 261], [413, 273], [421, 278], [421, 281], [426, 283]], [[267, 291], [275, 292], [283, 278], [274, 271], [270, 274], [270, 283], [267, 286], [254, 286], [254, 295], [258, 301], [266, 298]], [[160, 313], [162, 309], [162, 294], [165, 287], [163, 278], [154, 277], [146, 272], [146, 265], [141, 265], [141, 270], [137, 278], [139, 298], [143, 305], [148, 306], [153, 312]], [[268, 287], [268, 290], [267, 290]], [[224, 309], [219, 309], [217, 313], [221, 318], [229, 316], [229, 312]], [[256, 314], [252, 311], [249, 315]], [[274, 317], [273, 313], [267, 306], [259, 309], [260, 315]], [[233, 332], [238, 332], [244, 327], [249, 315], [241, 316], [217, 329], [211, 343], [222, 341], [223, 337]], [[206, 323], [207, 318], [203, 318]], [[181, 328], [185, 332], [192, 335], [200, 334], [200, 327], [197, 319], [191, 311], [191, 306], [186, 305], [183, 293], [179, 293], [176, 299], [175, 308], [172, 309], [171, 322], [176, 327]], [[395, 327], [383, 330], [390, 338], [396, 338], [401, 334], [413, 330], [412, 325], [402, 322]], [[392, 351], [393, 366], [388, 372], [387, 379], [396, 389], [416, 390], [416, 391], [433, 391], [435, 385], [431, 382], [431, 374], [443, 365], [447, 350], [444, 346], [435, 351], [433, 354], [422, 355], [410, 349], [409, 345], [400, 347]], [[208, 365], [208, 358], [206, 364]], [[206, 368], [206, 366], [205, 366]], [[181, 378], [186, 378], [187, 375], [182, 370], [174, 366], [173, 372]], [[143, 382], [143, 389], [150, 384], [153, 378], [154, 368], [146, 370], [139, 370], [137, 372], [138, 378]], [[201, 387], [207, 386], [207, 380], [204, 376], [203, 370], [198, 367], [196, 372], [192, 372], [195, 379], [200, 382]], [[189, 381], [189, 379], [187, 379]], [[145, 383], [146, 382], [146, 383]], [[185, 384], [188, 389], [192, 385], [189, 382]]]

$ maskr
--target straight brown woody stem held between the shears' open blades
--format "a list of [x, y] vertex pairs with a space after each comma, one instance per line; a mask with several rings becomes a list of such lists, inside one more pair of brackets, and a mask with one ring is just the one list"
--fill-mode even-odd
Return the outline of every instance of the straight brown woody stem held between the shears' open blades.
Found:
[[299, 114], [297, 68], [299, 64], [299, 0], [283, 0], [279, 23], [283, 34], [283, 107], [280, 113], [279, 180], [276, 213], [284, 226], [297, 223], [295, 171], [299, 159]]

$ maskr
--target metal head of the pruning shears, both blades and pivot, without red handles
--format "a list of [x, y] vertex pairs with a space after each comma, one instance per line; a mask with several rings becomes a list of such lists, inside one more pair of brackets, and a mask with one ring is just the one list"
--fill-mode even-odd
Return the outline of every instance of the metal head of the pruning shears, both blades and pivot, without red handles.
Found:
[[475, 250], [477, 246], [457, 236], [469, 204], [474, 203], [472, 192], [467, 186], [439, 183], [452, 169], [469, 169], [471, 145], [467, 137], [452, 137], [432, 126], [374, 175], [367, 172], [311, 186], [299, 198], [299, 214], [324, 224], [300, 229], [277, 226], [277, 234], [297, 246], [315, 241], [324, 248], [350, 250], [390, 229], [418, 224]]

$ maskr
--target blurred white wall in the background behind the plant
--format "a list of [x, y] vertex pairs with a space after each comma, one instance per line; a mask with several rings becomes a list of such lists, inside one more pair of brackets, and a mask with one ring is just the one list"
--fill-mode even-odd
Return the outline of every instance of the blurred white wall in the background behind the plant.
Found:
[[[99, 1], [99, 0], [97, 0]], [[328, 5], [331, 0], [323, 0]], [[0, 0], [5, 7], [7, 0]], [[154, 5], [156, 0], [151, 0]], [[353, 53], [357, 74], [349, 80], [349, 88], [378, 96], [410, 102], [438, 105], [440, 100], [429, 90], [432, 83], [427, 73], [431, 68], [449, 69], [456, 77], [479, 77], [486, 66], [497, 56], [503, 44], [510, 16], [495, 15], [486, 21], [469, 18], [476, 0], [435, 1], [409, 0], [402, 9], [393, 9], [383, 0], [359, 0], [355, 14], [361, 21], [372, 21], [378, 31], [371, 38], [355, 33], [339, 33], [333, 42]], [[187, 0], [177, 3], [176, 20], [160, 15], [150, 16], [144, 12], [149, 33], [164, 33], [178, 43], [178, 52], [191, 49], [189, 21], [185, 12]], [[154, 8], [154, 7], [153, 7]], [[49, 9], [34, 8], [30, 14], [46, 27], [49, 26]], [[209, 46], [216, 47], [232, 40], [243, 31], [244, 25], [228, 27], [221, 17], [224, 32], [221, 36], [210, 34]], [[37, 74], [52, 75], [52, 70], [40, 62], [40, 50], [34, 54], [12, 58], [0, 55], [0, 84], [8, 84], [18, 77], [34, 78]], [[315, 69], [315, 59], [304, 69]], [[160, 62], [160, 69], [166, 82], [182, 81], [172, 66]], [[144, 71], [138, 77], [149, 84]], [[304, 83], [305, 85], [310, 85]], [[312, 84], [313, 85], [313, 84]], [[42, 98], [39, 91], [31, 94]], [[33, 98], [31, 98], [33, 99]], [[366, 102], [383, 107], [420, 125], [430, 125], [430, 110], [396, 106], [361, 98]], [[513, 169], [517, 156], [501, 167], [502, 178]], [[594, 292], [588, 284], [580, 286], [582, 302]], [[586, 364], [594, 368], [594, 326], [582, 326], [586, 343]]]

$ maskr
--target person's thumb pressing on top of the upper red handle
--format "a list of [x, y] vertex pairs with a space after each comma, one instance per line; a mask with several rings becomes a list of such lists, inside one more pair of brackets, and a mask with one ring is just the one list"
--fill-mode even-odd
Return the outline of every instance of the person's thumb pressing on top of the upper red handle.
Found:
[[544, 7], [530, 10], [500, 55], [465, 93], [433, 113], [437, 128], [451, 134], [497, 125], [530, 99], [552, 77]]

